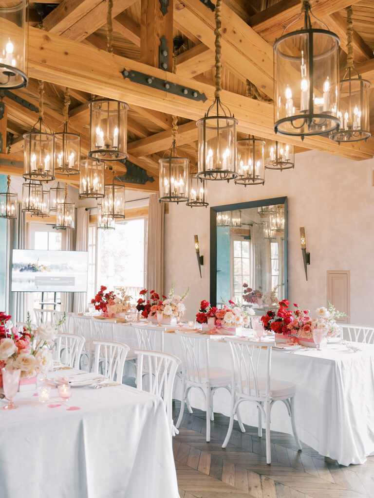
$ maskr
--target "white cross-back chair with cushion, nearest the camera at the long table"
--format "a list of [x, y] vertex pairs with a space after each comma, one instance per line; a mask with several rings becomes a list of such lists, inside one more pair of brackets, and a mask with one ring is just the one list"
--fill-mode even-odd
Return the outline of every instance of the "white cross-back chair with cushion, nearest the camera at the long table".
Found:
[[[283, 401], [291, 417], [292, 432], [299, 450], [301, 445], [295, 423], [296, 385], [271, 377], [271, 350], [275, 343], [263, 343], [226, 337], [231, 351], [232, 383], [230, 423], [222, 448], [231, 436], [234, 416], [238, 416], [239, 405], [251, 401], [258, 408], [258, 435], [262, 436], [262, 416], [265, 419], [266, 462], [271, 463], [270, 412], [276, 401]], [[239, 420], [239, 417], [238, 417]]]

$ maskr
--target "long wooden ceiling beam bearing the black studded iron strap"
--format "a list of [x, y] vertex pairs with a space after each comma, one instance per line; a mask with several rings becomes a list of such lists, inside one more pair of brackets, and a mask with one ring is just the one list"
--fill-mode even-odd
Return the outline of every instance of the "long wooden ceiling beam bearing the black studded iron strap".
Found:
[[[203, 117], [209, 102], [214, 100], [214, 87], [167, 73], [138, 61], [108, 54], [103, 50], [84, 46], [73, 40], [61, 41], [57, 35], [36, 28], [29, 28], [29, 76], [107, 98], [126, 100], [130, 106], [139, 106], [153, 111], [177, 114], [183, 118], [197, 120]], [[139, 71], [151, 77], [167, 79], [181, 86], [194, 88], [204, 93], [208, 102], [195, 101], [162, 90], [140, 85], [124, 79], [123, 69]], [[108, 74], [111, 75], [110, 79]], [[265, 138], [275, 138], [273, 107], [258, 100], [222, 91], [222, 101], [239, 121], [238, 130]], [[324, 137], [287, 137], [294, 145], [322, 150], [324, 152], [355, 160], [374, 155], [374, 140], [338, 145]]]

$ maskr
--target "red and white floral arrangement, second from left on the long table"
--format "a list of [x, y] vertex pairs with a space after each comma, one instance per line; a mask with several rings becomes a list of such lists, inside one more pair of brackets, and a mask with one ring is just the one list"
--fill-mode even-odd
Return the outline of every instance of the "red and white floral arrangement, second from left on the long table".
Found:
[[151, 297], [146, 301], [145, 296], [147, 292], [147, 289], [140, 291], [141, 297], [138, 299], [136, 306], [136, 309], [141, 311], [142, 316], [145, 318], [155, 317], [157, 313], [162, 313], [164, 320], [173, 318], [180, 320], [185, 314], [186, 306], [183, 304], [183, 301], [188, 295], [189, 287], [182, 296], [179, 296], [174, 294], [174, 285], [172, 284], [168, 296], [162, 295], [162, 300], [157, 292], [151, 290]]

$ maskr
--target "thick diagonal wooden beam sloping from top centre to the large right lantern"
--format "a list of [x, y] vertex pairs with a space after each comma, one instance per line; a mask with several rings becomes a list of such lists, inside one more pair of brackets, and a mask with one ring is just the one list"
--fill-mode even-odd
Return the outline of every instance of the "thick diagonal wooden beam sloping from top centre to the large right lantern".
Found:
[[[214, 13], [200, 0], [174, 0], [174, 17], [211, 50], [215, 49]], [[273, 49], [243, 19], [221, 5], [221, 53], [225, 66], [273, 97]]]

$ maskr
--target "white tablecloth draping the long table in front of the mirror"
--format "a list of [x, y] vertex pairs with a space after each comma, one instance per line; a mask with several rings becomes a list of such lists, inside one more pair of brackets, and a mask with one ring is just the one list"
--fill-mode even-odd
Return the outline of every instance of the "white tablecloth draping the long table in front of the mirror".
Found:
[[[116, 340], [134, 344], [132, 327], [116, 325]], [[330, 344], [319, 352], [287, 353], [273, 351], [272, 375], [297, 385], [296, 423], [301, 441], [321, 455], [341, 465], [363, 464], [374, 454], [374, 346], [356, 344], [362, 351], [353, 353], [345, 345]], [[175, 334], [164, 335], [164, 349], [181, 357]], [[231, 368], [228, 345], [212, 342], [212, 366]], [[180, 397], [180, 389], [177, 391]], [[203, 394], [190, 391], [191, 405], [205, 409]], [[214, 410], [229, 415], [229, 393], [218, 389]], [[253, 403], [241, 405], [243, 422], [257, 426]], [[292, 434], [290, 419], [283, 403], [275, 403], [271, 429]]]

